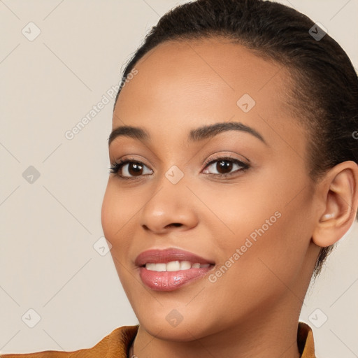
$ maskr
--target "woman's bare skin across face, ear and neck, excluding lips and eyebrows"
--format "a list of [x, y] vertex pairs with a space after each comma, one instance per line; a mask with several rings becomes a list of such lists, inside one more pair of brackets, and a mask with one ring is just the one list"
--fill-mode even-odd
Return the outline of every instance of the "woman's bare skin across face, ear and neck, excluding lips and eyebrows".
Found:
[[[136, 69], [118, 98], [113, 129], [143, 127], [152, 139], [110, 143], [110, 163], [131, 155], [145, 166], [135, 180], [119, 177], [133, 171], [110, 174], [101, 215], [140, 322], [134, 354], [300, 357], [303, 299], [320, 247], [338, 241], [354, 221], [357, 164], [338, 164], [317, 182], [308, 177], [306, 129], [287, 104], [289, 72], [241, 45], [166, 42]], [[256, 101], [248, 113], [236, 104], [243, 94]], [[266, 143], [243, 131], [187, 141], [191, 129], [217, 122], [241, 122]], [[227, 155], [249, 159], [250, 168], [238, 171], [233, 163], [226, 171], [233, 174], [220, 178], [217, 162], [204, 164]], [[184, 174], [175, 185], [165, 176], [173, 165]], [[172, 292], [141, 282], [134, 264], [141, 252], [180, 248], [215, 262], [215, 272], [275, 212], [281, 216], [216, 282], [207, 275]], [[166, 320], [173, 309], [182, 315], [177, 327]]]

